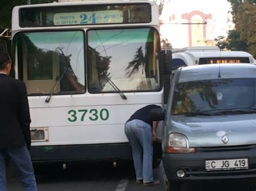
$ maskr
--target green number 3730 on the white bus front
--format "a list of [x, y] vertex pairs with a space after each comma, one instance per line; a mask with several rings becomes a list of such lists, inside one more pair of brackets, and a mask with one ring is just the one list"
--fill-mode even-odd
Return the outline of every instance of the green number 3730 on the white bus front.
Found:
[[79, 110], [69, 110], [68, 112], [69, 117], [68, 120], [70, 122], [76, 122], [76, 121], [86, 121], [86, 119], [90, 121], [106, 121], [109, 119], [109, 110], [107, 109], [79, 109]]

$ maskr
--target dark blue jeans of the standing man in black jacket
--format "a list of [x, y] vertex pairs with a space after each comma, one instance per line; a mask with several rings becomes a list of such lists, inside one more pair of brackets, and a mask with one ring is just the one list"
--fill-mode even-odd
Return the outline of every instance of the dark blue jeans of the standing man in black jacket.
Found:
[[26, 146], [0, 150], [0, 191], [6, 191], [6, 175], [4, 155], [8, 154], [15, 168], [18, 178], [21, 179], [24, 191], [37, 191], [36, 178]]

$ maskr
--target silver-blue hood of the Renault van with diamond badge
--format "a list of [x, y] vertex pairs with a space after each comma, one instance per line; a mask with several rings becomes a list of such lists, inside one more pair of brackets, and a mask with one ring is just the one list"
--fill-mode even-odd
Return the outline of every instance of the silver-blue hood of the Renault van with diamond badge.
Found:
[[256, 114], [171, 116], [167, 131], [185, 135], [190, 147], [251, 145], [256, 144]]

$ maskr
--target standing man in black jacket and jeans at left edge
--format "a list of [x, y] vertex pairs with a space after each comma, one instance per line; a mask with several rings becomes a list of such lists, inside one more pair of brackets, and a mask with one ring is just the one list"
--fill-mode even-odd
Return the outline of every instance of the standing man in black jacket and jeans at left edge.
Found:
[[30, 114], [26, 87], [8, 75], [11, 59], [0, 52], [0, 190], [6, 191], [5, 161], [7, 154], [17, 169], [25, 191], [36, 191], [37, 183], [28, 149]]

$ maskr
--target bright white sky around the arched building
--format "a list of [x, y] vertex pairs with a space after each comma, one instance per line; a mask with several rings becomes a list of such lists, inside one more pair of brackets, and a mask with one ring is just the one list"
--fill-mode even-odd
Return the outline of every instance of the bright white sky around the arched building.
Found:
[[[231, 5], [226, 0], [165, 0], [160, 19], [164, 23], [170, 23], [169, 17], [174, 14], [174, 23], [187, 23], [186, 20], [181, 19], [181, 14], [190, 13], [194, 10], [201, 11], [205, 14], [212, 14], [212, 19], [206, 20], [207, 39], [214, 40], [218, 36], [226, 37], [227, 31], [233, 28], [233, 24], [227, 22], [228, 19], [232, 20], [232, 15], [228, 13], [231, 10]], [[198, 17], [194, 17], [194, 19], [196, 18]], [[191, 22], [198, 21], [191, 20]], [[188, 25], [166, 24], [161, 26], [160, 32], [164, 38], [167, 38], [171, 42], [174, 48], [181, 48], [187, 46], [187, 27]]]

